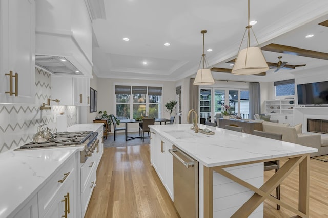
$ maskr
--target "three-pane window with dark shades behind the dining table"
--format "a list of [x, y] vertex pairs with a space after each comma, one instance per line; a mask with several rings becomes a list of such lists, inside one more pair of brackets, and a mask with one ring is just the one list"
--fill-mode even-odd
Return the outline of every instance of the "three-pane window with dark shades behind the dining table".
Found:
[[[148, 90], [148, 92], [147, 92]], [[116, 116], [135, 119], [141, 114], [153, 118], [161, 116], [161, 87], [115, 86]]]

